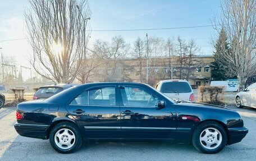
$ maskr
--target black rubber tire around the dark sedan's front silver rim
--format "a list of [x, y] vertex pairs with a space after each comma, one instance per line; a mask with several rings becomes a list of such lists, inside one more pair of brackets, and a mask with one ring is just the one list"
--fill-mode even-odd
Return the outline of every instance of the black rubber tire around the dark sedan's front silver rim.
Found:
[[[206, 146], [206, 144], [205, 145], [203, 144], [205, 142], [203, 142], [203, 141], [201, 142], [201, 140], [200, 140], [200, 137], [202, 137], [202, 135], [204, 133], [203, 131], [205, 131], [207, 129], [210, 129], [210, 130], [211, 129], [216, 129], [221, 134], [221, 135], [218, 134], [219, 139], [220, 139], [220, 137], [222, 137], [222, 140], [219, 141], [220, 144], [219, 145], [216, 144], [216, 148], [214, 148], [215, 144], [213, 144], [213, 147], [209, 147], [209, 148], [214, 148], [214, 149], [205, 148], [204, 146]], [[217, 137], [214, 138], [214, 139], [217, 139]], [[212, 137], [211, 137], [211, 140], [212, 140]], [[202, 152], [202, 153], [215, 154], [215, 153], [220, 152], [226, 146], [226, 144], [227, 144], [227, 133], [225, 131], [225, 128], [223, 128], [223, 126], [220, 123], [217, 123], [217, 122], [214, 122], [214, 121], [207, 121], [207, 122], [204, 122], [204, 123], [202, 123], [201, 125], [199, 125], [198, 127], [195, 128], [195, 131], [194, 131], [193, 136], [192, 136], [192, 143], [193, 143], [195, 149]], [[211, 144], [211, 142], [209, 144]]]

